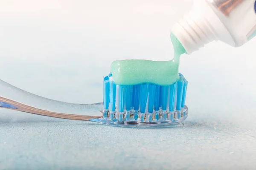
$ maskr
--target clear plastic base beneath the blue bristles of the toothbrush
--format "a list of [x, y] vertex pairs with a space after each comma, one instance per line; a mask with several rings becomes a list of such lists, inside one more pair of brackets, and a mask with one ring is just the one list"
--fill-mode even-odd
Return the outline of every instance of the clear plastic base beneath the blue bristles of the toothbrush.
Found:
[[90, 121], [99, 122], [108, 125], [115, 125], [121, 127], [155, 127], [155, 126], [170, 126], [179, 125], [188, 116], [188, 108], [185, 106], [180, 111], [154, 111], [153, 113], [140, 113], [137, 111], [124, 111], [119, 113], [109, 110], [101, 111], [107, 112], [106, 118], [91, 119]]

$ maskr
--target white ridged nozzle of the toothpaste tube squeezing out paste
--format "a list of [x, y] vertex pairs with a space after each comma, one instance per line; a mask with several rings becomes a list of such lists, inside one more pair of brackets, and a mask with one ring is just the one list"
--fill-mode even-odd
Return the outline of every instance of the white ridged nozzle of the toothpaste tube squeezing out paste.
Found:
[[229, 44], [233, 38], [227, 28], [204, 0], [195, 3], [194, 8], [172, 28], [174, 34], [185, 48], [187, 54], [197, 51], [204, 45], [224, 37]]

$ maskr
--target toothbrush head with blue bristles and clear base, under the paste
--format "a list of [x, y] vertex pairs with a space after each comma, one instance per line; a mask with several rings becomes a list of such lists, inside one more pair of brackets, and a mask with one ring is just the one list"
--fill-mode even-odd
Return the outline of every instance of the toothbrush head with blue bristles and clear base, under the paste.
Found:
[[111, 76], [103, 79], [102, 118], [90, 121], [121, 127], [155, 127], [177, 125], [187, 118], [188, 82], [182, 74], [177, 82], [164, 86], [116, 85]]

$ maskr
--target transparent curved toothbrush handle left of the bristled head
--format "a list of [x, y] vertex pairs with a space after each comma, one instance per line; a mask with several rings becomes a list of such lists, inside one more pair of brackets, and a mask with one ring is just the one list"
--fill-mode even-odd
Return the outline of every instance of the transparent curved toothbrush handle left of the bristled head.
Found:
[[99, 110], [103, 103], [73, 104], [47, 99], [0, 80], [0, 108], [62, 119], [90, 120], [102, 117]]

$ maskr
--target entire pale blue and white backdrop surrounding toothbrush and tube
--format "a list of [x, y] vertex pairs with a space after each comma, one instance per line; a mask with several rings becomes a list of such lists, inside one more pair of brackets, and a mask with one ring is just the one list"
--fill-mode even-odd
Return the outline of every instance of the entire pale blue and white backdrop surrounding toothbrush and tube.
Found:
[[[0, 79], [74, 103], [102, 102], [102, 77], [115, 59], [172, 59], [170, 28], [192, 6], [13, 2], [0, 6]], [[0, 109], [0, 170], [256, 169], [255, 44], [212, 42], [182, 56], [185, 126], [120, 128]]]

